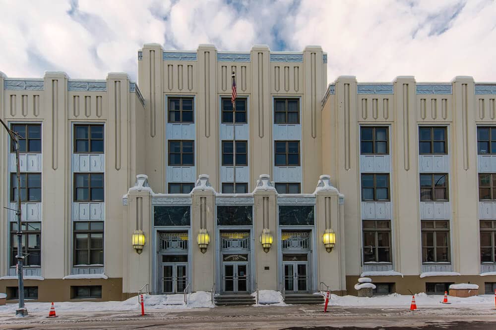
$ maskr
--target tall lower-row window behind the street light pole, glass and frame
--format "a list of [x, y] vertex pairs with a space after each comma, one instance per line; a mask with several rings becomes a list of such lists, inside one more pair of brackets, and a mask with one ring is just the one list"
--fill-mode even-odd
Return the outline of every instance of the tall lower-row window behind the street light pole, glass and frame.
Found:
[[[25, 266], [41, 266], [41, 222], [22, 222], [21, 253]], [[17, 265], [17, 223], [10, 223], [10, 266]]]

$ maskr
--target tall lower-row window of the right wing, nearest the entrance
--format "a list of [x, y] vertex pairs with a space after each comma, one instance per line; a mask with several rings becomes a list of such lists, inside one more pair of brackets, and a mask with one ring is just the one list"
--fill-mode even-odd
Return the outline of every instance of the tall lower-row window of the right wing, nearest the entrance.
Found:
[[391, 221], [364, 220], [364, 263], [391, 262]]

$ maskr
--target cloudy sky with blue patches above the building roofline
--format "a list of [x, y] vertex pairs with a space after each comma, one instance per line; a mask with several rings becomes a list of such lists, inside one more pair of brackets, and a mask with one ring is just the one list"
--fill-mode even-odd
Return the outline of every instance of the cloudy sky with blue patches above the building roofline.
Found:
[[494, 0], [0, 0], [0, 71], [41, 77], [136, 78], [144, 43], [165, 49], [328, 53], [328, 82], [496, 81]]

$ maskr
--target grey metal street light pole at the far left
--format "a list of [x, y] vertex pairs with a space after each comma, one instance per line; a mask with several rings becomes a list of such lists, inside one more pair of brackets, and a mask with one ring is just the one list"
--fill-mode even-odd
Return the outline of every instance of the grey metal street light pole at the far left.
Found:
[[[18, 281], [18, 295], [19, 295], [19, 308], [15, 310], [16, 316], [28, 316], [28, 310], [24, 306], [24, 279], [22, 271], [22, 262], [24, 261], [24, 256], [22, 255], [22, 230], [21, 230], [21, 165], [19, 162], [19, 134], [12, 131], [8, 126], [0, 119], [1, 124], [7, 131], [12, 142], [15, 143], [15, 165], [17, 172], [17, 281]], [[27, 243], [27, 242], [26, 242]]]

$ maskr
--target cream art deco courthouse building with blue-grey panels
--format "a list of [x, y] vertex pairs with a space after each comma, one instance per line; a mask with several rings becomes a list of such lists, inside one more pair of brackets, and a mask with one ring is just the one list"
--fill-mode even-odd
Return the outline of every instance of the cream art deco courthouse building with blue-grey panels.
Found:
[[[355, 294], [363, 273], [377, 293], [494, 289], [496, 84], [346, 76], [327, 87], [326, 67], [318, 46], [146, 44], [137, 84], [2, 74], [1, 118], [25, 138], [26, 296], [121, 300], [146, 284]], [[15, 213], [3, 207], [15, 208], [15, 157], [3, 131], [0, 154], [0, 292], [14, 299]]]

